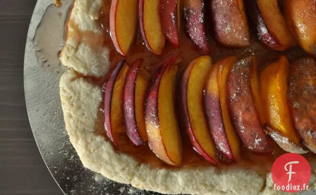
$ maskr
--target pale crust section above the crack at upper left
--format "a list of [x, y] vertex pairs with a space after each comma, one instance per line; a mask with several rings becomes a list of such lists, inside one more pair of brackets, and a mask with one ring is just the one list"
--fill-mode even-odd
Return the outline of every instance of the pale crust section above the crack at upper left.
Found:
[[[102, 0], [76, 0], [71, 11], [71, 25], [68, 25], [66, 44], [61, 52], [60, 59], [65, 66], [74, 68], [85, 76], [103, 76], [110, 66], [109, 49], [103, 42], [93, 43], [93, 47], [84, 39], [103, 38], [103, 32], [96, 22]], [[89, 34], [82, 38], [83, 34]]]

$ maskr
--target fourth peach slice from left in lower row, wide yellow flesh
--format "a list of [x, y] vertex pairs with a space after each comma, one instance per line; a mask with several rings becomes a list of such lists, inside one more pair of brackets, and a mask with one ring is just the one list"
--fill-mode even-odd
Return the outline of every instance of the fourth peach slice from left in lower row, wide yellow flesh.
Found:
[[181, 80], [182, 121], [193, 148], [206, 160], [217, 165], [216, 148], [203, 108], [203, 89], [212, 61], [209, 56], [193, 60]]

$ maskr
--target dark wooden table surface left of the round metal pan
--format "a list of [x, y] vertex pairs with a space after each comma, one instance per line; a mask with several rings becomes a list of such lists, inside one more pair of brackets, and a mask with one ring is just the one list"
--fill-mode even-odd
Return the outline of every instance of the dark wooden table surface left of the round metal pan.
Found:
[[36, 0], [0, 0], [0, 195], [63, 195], [37, 149], [25, 107], [24, 47]]

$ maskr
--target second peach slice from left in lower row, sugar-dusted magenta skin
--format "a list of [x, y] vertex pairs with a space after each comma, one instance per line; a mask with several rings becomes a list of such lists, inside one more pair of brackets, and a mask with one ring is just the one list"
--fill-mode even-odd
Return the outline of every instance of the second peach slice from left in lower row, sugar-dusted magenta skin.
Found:
[[149, 78], [142, 66], [143, 60], [136, 60], [127, 72], [123, 91], [123, 113], [126, 132], [137, 146], [147, 142], [145, 125], [145, 94]]

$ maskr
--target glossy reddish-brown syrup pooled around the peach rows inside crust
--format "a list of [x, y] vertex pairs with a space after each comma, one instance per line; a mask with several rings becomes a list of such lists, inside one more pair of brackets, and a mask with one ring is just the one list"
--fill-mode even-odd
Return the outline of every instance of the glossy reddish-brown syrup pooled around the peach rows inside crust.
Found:
[[[76, 26], [75, 22], [72, 21], [70, 18], [67, 21], [67, 27], [71, 27], [73, 30], [68, 31], [68, 34], [66, 35], [66, 38], [72, 37], [78, 42], [83, 42], [86, 45], [90, 46], [91, 48], [97, 49], [99, 46], [105, 46], [109, 48], [110, 51], [110, 62], [112, 70], [115, 65], [117, 65], [118, 62], [123, 60], [124, 58], [119, 55], [119, 53], [115, 50], [115, 47], [111, 41], [110, 37], [110, 30], [109, 30], [109, 10], [110, 10], [110, 0], [103, 0], [103, 4], [99, 13], [99, 19], [98, 19], [98, 28], [102, 31], [101, 34], [96, 34], [92, 31], [86, 31], [86, 32], [80, 32], [78, 27]], [[189, 63], [195, 59], [196, 57], [200, 56], [198, 50], [196, 49], [196, 46], [191, 42], [191, 40], [186, 36], [184, 33], [183, 25], [181, 25], [181, 31], [179, 35], [180, 40], [180, 46], [178, 49], [174, 49], [170, 44], [166, 43], [164, 46], [164, 49], [162, 51], [161, 56], [165, 56], [170, 53], [179, 52], [181, 54], [181, 62], [179, 63], [179, 66], [181, 67], [181, 70], [185, 69]], [[210, 34], [207, 34], [209, 47], [210, 47], [210, 53], [209, 55], [212, 57], [213, 62], [217, 62], [219, 59], [223, 59], [228, 56], [237, 56], [238, 58], [246, 57], [249, 55], [256, 55], [259, 59], [259, 61], [265, 61], [267, 57], [271, 56], [277, 56], [280, 54], [284, 54], [288, 57], [288, 59], [296, 59], [301, 56], [305, 56], [305, 53], [302, 52], [301, 49], [298, 47], [294, 47], [291, 50], [282, 52], [282, 53], [276, 53], [274, 51], [269, 50], [265, 46], [263, 46], [257, 39], [252, 40], [252, 45], [246, 48], [226, 48], [222, 45], [220, 45], [218, 42], [216, 42], [213, 37], [211, 37]], [[152, 74], [152, 72], [155, 69], [155, 64], [158, 62], [159, 58], [161, 56], [156, 56], [152, 54], [145, 46], [144, 41], [141, 37], [140, 30], [138, 29], [137, 35], [135, 37], [134, 43], [132, 44], [129, 52], [126, 55], [126, 61], [128, 64], [132, 64], [136, 59], [142, 58], [144, 59], [144, 64], [147, 67], [147, 72], [144, 72], [144, 76], [148, 76]], [[78, 77], [85, 77], [88, 79], [91, 79], [94, 83], [98, 85], [102, 85], [104, 81], [106, 81], [109, 77], [109, 74], [111, 71], [109, 71], [108, 74], [106, 74], [102, 78], [95, 78], [95, 77], [89, 77], [89, 76], [83, 76], [78, 73]], [[100, 111], [98, 111], [98, 121], [95, 126], [95, 133], [98, 135], [102, 135], [105, 137], [107, 141], [110, 141], [107, 137], [104, 129], [104, 117], [102, 113], [102, 108], [100, 107]], [[122, 126], [124, 127], [124, 126]], [[151, 149], [148, 147], [148, 144], [145, 144], [143, 146], [134, 146], [132, 142], [129, 140], [127, 135], [123, 135], [122, 140], [124, 140], [125, 144], [122, 144], [120, 146], [117, 146], [115, 144], [113, 145], [113, 148], [117, 150], [117, 152], [124, 152], [127, 154], [130, 154], [140, 163], [146, 163], [149, 164], [151, 167], [163, 167], [167, 169], [181, 169], [181, 167], [199, 167], [199, 166], [212, 166], [208, 161], [203, 159], [196, 151], [194, 151], [189, 144], [189, 142], [185, 139], [185, 135], [182, 135], [182, 147], [183, 147], [183, 160], [182, 164], [179, 167], [171, 167], [163, 163], [162, 161], [158, 160], [158, 157], [151, 151]], [[279, 147], [270, 153], [266, 154], [255, 154], [250, 153], [245, 150], [241, 151], [242, 153], [242, 160], [238, 162], [237, 164], [232, 163], [221, 163], [220, 168], [222, 169], [228, 169], [232, 167], [242, 167], [243, 169], [252, 169], [257, 170], [258, 173], [265, 174], [268, 171], [270, 171], [272, 163], [274, 160], [286, 153]], [[304, 154], [304, 156], [307, 159], [315, 158], [315, 154], [308, 153]], [[224, 157], [223, 157], [224, 158]], [[225, 158], [224, 158], [225, 161]]]

